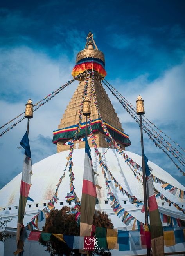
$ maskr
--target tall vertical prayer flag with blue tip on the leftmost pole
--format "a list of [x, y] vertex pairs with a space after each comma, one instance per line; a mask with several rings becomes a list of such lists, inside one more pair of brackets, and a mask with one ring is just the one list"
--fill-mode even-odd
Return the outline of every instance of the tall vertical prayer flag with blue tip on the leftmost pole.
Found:
[[21, 178], [21, 186], [20, 186], [20, 198], [19, 198], [19, 209], [18, 209], [18, 222], [17, 222], [17, 251], [14, 252], [14, 255], [23, 251], [23, 241], [20, 239], [21, 232], [23, 231], [23, 219], [25, 214], [26, 202], [29, 194], [29, 190], [31, 187], [31, 151], [29, 145], [28, 133], [24, 134], [20, 145], [25, 149], [24, 152], [24, 162], [23, 162], [23, 171]]

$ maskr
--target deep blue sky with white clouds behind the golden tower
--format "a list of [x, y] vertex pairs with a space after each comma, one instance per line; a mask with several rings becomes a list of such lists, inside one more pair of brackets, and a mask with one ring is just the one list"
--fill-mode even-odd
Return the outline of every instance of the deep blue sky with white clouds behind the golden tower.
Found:
[[[145, 100], [145, 115], [185, 147], [185, 20], [184, 1], [70, 0], [1, 1], [0, 126], [68, 80], [75, 56], [84, 49], [89, 30], [106, 58], [106, 79], [135, 105]], [[77, 82], [69, 85], [30, 122], [32, 162], [56, 153], [57, 129]], [[138, 125], [109, 94], [132, 145], [140, 154]], [[0, 138], [0, 187], [22, 171], [19, 142], [26, 120]], [[3, 129], [0, 131], [2, 132]], [[144, 136], [145, 154], [185, 185], [185, 177]]]

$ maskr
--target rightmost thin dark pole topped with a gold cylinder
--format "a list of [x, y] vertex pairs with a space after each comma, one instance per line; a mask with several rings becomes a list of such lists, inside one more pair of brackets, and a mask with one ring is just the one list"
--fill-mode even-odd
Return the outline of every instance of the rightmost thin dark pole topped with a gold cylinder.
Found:
[[[141, 131], [141, 150], [142, 150], [142, 171], [143, 171], [143, 190], [144, 190], [144, 207], [145, 207], [145, 224], [148, 225], [148, 204], [147, 204], [147, 189], [146, 189], [146, 170], [144, 160], [144, 144], [143, 144], [143, 128], [142, 115], [145, 113], [144, 100], [139, 95], [136, 101], [136, 113], [140, 116], [140, 131]], [[147, 248], [147, 256], [150, 256], [150, 248]]]

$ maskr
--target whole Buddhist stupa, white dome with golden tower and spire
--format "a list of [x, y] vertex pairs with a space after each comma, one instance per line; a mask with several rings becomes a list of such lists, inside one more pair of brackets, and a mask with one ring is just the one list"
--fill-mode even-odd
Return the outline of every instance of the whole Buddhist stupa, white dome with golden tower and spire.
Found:
[[[74, 133], [77, 129], [77, 123], [79, 122], [79, 109], [81, 104], [81, 99], [83, 95], [83, 88], [85, 85], [86, 74], [89, 70], [94, 71], [94, 87], [97, 95], [97, 103], [99, 110], [101, 112], [104, 123], [110, 132], [111, 136], [120, 145], [120, 147], [125, 150], [125, 147], [131, 145], [128, 134], [124, 133], [122, 124], [113, 108], [113, 105], [106, 94], [106, 91], [102, 87], [101, 79], [106, 75], [105, 71], [105, 59], [104, 54], [99, 51], [94, 40], [93, 34], [89, 33], [87, 37], [87, 42], [85, 49], [77, 54], [76, 65], [72, 71], [73, 76], [79, 76], [79, 85], [68, 104], [65, 113], [60, 121], [57, 130], [53, 132], [53, 143], [57, 144], [57, 153], [49, 156], [38, 163], [32, 165], [32, 186], [29, 192], [29, 197], [34, 200], [27, 201], [27, 206], [25, 209], [24, 224], [26, 225], [30, 220], [39, 212], [50, 201], [52, 196], [56, 191], [56, 184], [59, 178], [63, 175], [63, 170], [65, 169], [66, 157], [69, 154], [70, 141], [74, 137]], [[89, 82], [91, 82], [91, 76]], [[90, 95], [90, 88], [88, 87], [88, 96]], [[99, 116], [97, 109], [91, 102], [91, 119], [92, 119], [92, 129], [93, 134], [96, 136], [96, 143], [99, 147], [99, 151], [103, 155], [104, 162], [111, 170], [115, 179], [120, 182], [122, 187], [124, 187], [130, 194], [137, 196], [138, 200], [143, 202], [143, 186], [134, 177], [133, 172], [129, 168], [129, 165], [124, 162], [123, 157], [117, 154], [116, 150], [111, 147], [111, 142], [106, 136], [100, 125]], [[79, 200], [81, 200], [82, 193], [82, 182], [83, 182], [83, 169], [84, 169], [84, 118], [82, 119], [81, 129], [75, 142], [74, 153], [73, 153], [73, 173], [75, 175], [74, 187]], [[91, 139], [88, 140], [91, 146]], [[133, 161], [138, 165], [142, 165], [141, 156], [124, 151]], [[109, 218], [111, 218], [115, 229], [131, 229], [130, 226], [126, 226], [121, 218], [118, 218], [107, 199], [107, 189], [105, 185], [104, 176], [102, 174], [102, 169], [99, 167], [99, 159], [94, 153], [92, 148], [92, 162], [95, 172], [99, 174], [97, 178], [97, 184], [99, 189], [97, 189], [98, 202], [96, 204], [96, 209], [105, 211], [108, 213]], [[185, 187], [181, 185], [177, 180], [175, 180], [168, 172], [164, 171], [162, 168], [156, 164], [149, 161], [149, 166], [151, 167], [152, 174], [158, 178], [165, 180], [166, 182], [185, 190]], [[22, 172], [22, 170], [20, 170]], [[10, 233], [16, 232], [17, 226], [17, 216], [18, 216], [18, 203], [20, 194], [20, 180], [21, 173], [18, 174], [13, 180], [11, 180], [5, 187], [0, 190], [0, 214], [2, 214], [3, 219], [12, 218], [12, 222], [8, 223], [7, 231]], [[122, 194], [119, 190], [115, 189], [113, 181], [110, 182], [110, 187], [115, 193], [117, 200], [120, 205], [131, 213], [139, 221], [144, 222], [144, 214], [141, 212], [142, 207], [136, 208], [135, 205], [129, 202], [128, 197]], [[163, 193], [172, 202], [178, 203], [183, 207], [183, 200], [177, 198], [168, 191], [162, 189], [161, 185], [156, 183], [156, 189]], [[58, 190], [58, 203], [55, 205], [56, 209], [61, 209], [63, 205], [68, 205], [66, 202], [66, 194], [69, 192], [69, 177], [66, 173], [65, 177], [61, 182], [60, 189]], [[173, 205], [169, 205], [167, 202], [161, 200], [158, 201], [158, 207], [161, 213], [170, 214], [174, 218], [183, 219], [184, 216], [180, 211], [177, 211]], [[74, 203], [70, 203], [71, 206]], [[42, 228], [40, 223], [39, 228]], [[5, 245], [0, 245], [0, 255], [9, 256], [12, 255], [13, 249], [16, 248], [16, 241], [7, 240]], [[166, 247], [165, 252], [172, 251], [183, 251], [183, 244], [175, 245], [173, 248]], [[35, 254], [36, 253], [36, 254]], [[121, 256], [122, 251], [111, 251], [112, 255]], [[124, 251], [124, 255], [140, 255], [145, 254], [145, 250], [140, 251]], [[25, 254], [24, 255], [49, 255], [44, 251], [42, 245], [38, 243], [30, 244], [25, 242]]]

